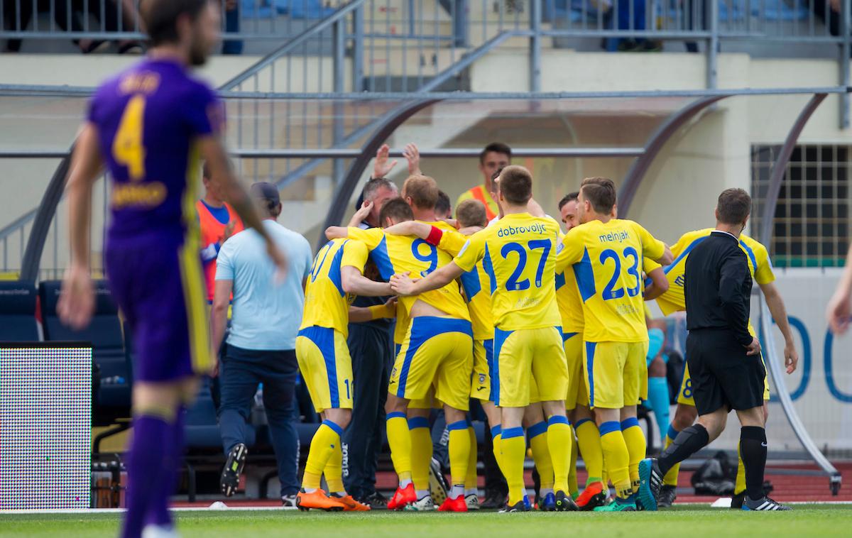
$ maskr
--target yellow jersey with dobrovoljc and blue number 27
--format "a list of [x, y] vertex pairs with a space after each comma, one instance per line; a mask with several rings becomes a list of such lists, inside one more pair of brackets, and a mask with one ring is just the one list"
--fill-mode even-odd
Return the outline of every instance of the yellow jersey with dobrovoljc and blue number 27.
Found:
[[482, 260], [497, 329], [561, 326], [554, 270], [558, 240], [556, 220], [511, 214], [470, 236], [458, 253], [456, 265], [465, 272]]

